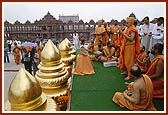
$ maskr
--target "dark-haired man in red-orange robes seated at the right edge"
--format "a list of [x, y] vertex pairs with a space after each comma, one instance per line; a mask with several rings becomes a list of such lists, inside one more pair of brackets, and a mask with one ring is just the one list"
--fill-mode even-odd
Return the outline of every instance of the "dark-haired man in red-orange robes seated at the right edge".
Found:
[[164, 98], [164, 56], [162, 51], [163, 44], [157, 43], [152, 47], [151, 53], [155, 58], [146, 73], [152, 79], [154, 98]]

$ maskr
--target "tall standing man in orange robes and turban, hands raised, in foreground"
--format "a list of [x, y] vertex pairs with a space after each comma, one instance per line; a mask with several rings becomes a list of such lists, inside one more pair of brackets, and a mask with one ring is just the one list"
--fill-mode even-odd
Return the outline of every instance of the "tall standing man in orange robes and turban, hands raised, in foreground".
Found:
[[127, 22], [127, 29], [124, 32], [119, 30], [119, 32], [123, 35], [121, 36], [123, 39], [123, 43], [121, 46], [119, 67], [122, 70], [126, 70], [126, 72], [121, 74], [128, 75], [125, 78], [125, 80], [129, 80], [130, 67], [135, 64], [136, 55], [140, 53], [140, 41], [139, 41], [138, 30], [133, 25], [134, 18], [127, 17], [126, 22]]

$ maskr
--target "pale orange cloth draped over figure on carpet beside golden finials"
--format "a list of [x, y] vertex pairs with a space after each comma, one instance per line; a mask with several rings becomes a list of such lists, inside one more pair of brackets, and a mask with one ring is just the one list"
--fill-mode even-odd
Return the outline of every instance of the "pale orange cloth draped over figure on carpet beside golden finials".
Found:
[[94, 74], [92, 60], [88, 55], [78, 55], [76, 67], [72, 71], [73, 74], [88, 75]]

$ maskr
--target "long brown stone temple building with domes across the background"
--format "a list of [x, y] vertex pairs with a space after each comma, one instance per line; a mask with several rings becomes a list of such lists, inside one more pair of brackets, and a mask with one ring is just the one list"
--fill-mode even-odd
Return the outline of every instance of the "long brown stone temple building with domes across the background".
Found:
[[[133, 13], [130, 15], [133, 15]], [[60, 42], [64, 38], [68, 38], [71, 41], [72, 35], [76, 31], [80, 37], [89, 40], [90, 38], [94, 38], [92, 33], [97, 25], [96, 21], [91, 19], [89, 22], [84, 22], [83, 20], [79, 20], [78, 15], [59, 15], [59, 19], [56, 19], [50, 12], [42, 19], [36, 20], [33, 23], [29, 20], [25, 23], [20, 23], [16, 20], [12, 24], [6, 20], [4, 22], [4, 39], [54, 39]], [[111, 22], [107, 22], [109, 26], [113, 25], [113, 21], [114, 19]]]

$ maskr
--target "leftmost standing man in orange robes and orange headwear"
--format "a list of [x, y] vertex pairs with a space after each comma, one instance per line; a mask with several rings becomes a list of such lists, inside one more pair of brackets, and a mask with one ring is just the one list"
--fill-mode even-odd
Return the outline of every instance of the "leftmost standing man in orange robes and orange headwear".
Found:
[[99, 20], [97, 23], [98, 23], [98, 27], [96, 27], [95, 33], [94, 33], [96, 35], [94, 46], [98, 45], [99, 40], [103, 41], [104, 34], [105, 34], [105, 28], [102, 26], [102, 20]]

